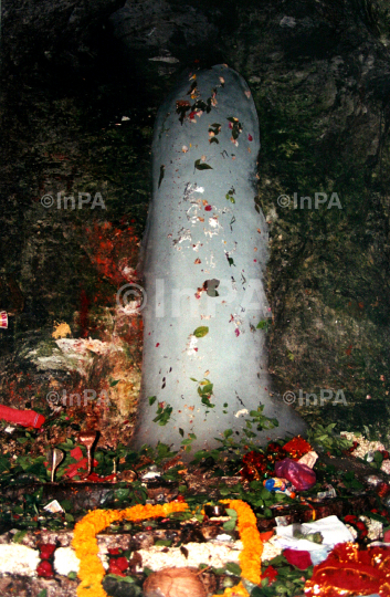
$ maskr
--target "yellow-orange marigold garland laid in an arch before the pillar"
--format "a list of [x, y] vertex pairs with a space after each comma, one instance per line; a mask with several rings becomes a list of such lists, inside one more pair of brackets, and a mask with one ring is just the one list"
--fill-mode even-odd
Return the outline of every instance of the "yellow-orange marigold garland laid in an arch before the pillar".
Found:
[[[263, 543], [256, 525], [256, 516], [251, 507], [241, 500], [223, 500], [238, 513], [238, 528], [243, 543], [243, 551], [240, 554], [242, 577], [254, 585], [261, 580], [261, 556]], [[189, 506], [186, 502], [171, 502], [164, 505], [136, 505], [126, 510], [95, 510], [91, 511], [82, 519], [74, 528], [73, 547], [80, 559], [78, 578], [81, 584], [77, 587], [78, 597], [107, 597], [107, 593], [102, 586], [105, 569], [98, 558], [98, 546], [96, 535], [115, 521], [141, 521], [157, 516], [166, 517], [173, 512], [183, 512]], [[249, 597], [242, 582], [238, 586], [226, 588], [224, 597]], [[214, 596], [217, 597], [217, 596]]]

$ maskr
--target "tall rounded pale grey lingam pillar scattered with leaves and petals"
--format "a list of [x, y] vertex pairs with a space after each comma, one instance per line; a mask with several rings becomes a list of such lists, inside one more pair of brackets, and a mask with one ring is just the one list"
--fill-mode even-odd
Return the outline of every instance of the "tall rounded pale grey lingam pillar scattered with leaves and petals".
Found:
[[253, 426], [260, 444], [305, 429], [272, 396], [265, 333], [256, 327], [271, 317], [259, 151], [251, 91], [225, 65], [186, 73], [158, 112], [141, 261], [137, 448], [160, 441], [178, 449], [192, 439], [192, 448], [210, 449], [228, 429], [245, 438], [250, 412], [261, 405], [278, 427]]

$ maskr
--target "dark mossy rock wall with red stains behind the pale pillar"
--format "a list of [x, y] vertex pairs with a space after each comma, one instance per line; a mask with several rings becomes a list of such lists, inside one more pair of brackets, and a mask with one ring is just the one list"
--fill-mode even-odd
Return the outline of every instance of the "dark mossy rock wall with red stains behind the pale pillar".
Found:
[[[386, 434], [389, 22], [386, 3], [368, 0], [48, 1], [23, 18], [9, 2], [0, 308], [17, 313], [0, 336], [2, 401], [46, 411], [49, 389], [108, 387], [118, 426], [134, 415], [140, 324], [113, 321], [122, 265], [135, 266], [145, 227], [154, 117], [183, 67], [225, 62], [250, 83], [260, 115], [275, 386], [342, 390], [347, 406], [299, 409]], [[42, 205], [59, 192], [99, 192], [106, 209]], [[315, 192], [337, 193], [341, 209], [313, 209]], [[294, 193], [312, 209], [295, 209]], [[55, 322], [115, 349], [89, 352], [77, 368], [53, 338]]]

